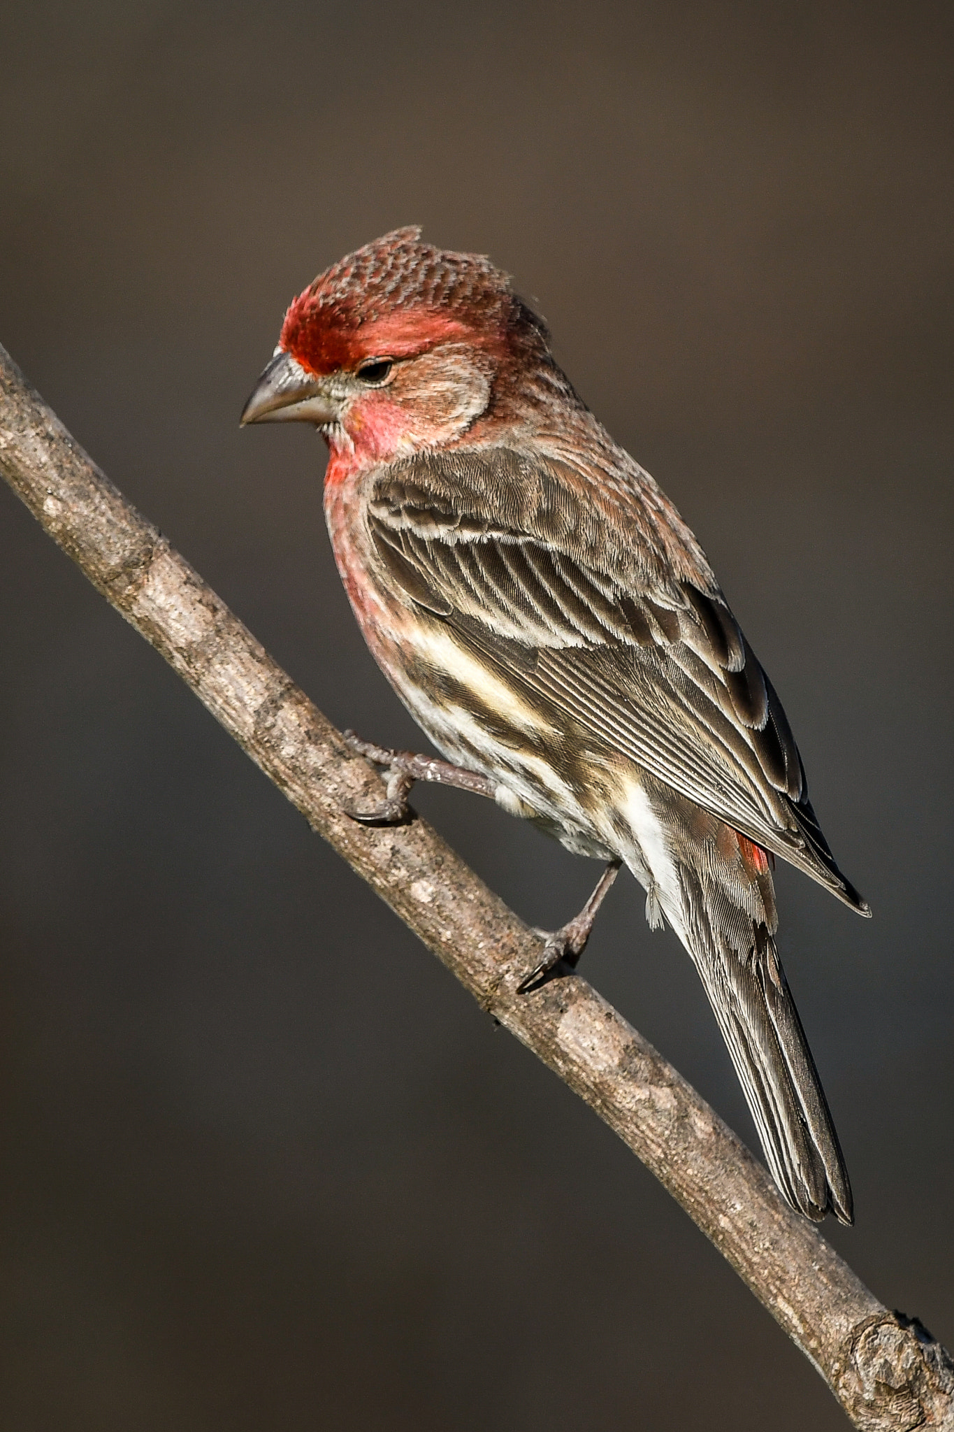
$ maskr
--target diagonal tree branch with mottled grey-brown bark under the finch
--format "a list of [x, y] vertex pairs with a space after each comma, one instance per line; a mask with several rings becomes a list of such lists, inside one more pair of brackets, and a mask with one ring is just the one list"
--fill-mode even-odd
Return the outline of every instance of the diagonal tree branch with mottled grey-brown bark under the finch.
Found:
[[3, 348], [0, 470], [312, 828], [665, 1184], [855, 1426], [954, 1429], [950, 1355], [917, 1319], [878, 1303], [682, 1075], [579, 975], [518, 995], [538, 938], [425, 821], [368, 829], [343, 815], [345, 802], [380, 798], [379, 778], [100, 473]]

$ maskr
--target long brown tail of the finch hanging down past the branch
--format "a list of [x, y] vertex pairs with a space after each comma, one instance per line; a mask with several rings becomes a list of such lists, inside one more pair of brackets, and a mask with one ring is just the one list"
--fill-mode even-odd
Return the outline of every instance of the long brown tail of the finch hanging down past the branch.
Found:
[[[721, 881], [684, 863], [679, 886], [677, 929], [702, 978], [775, 1183], [808, 1219], [820, 1221], [831, 1210], [852, 1223], [838, 1136], [769, 927], [739, 908]], [[774, 908], [769, 919], [774, 925]]]

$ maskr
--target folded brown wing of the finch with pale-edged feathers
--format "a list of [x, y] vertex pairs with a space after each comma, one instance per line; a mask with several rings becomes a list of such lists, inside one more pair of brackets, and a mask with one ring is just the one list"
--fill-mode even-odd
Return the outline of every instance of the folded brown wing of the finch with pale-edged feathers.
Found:
[[867, 909], [818, 828], [781, 702], [708, 569], [688, 580], [658, 551], [646, 558], [626, 540], [625, 514], [614, 520], [605, 504], [586, 504], [574, 526], [552, 468], [471, 450], [385, 470], [368, 520], [389, 577], [591, 740]]

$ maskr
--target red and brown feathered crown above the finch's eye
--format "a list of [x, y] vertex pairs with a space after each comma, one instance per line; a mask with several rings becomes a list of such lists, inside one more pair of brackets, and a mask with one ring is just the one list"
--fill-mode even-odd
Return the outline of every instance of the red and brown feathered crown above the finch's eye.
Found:
[[319, 274], [292, 301], [279, 347], [320, 375], [452, 341], [526, 351], [546, 347], [546, 329], [488, 258], [436, 249], [409, 228]]

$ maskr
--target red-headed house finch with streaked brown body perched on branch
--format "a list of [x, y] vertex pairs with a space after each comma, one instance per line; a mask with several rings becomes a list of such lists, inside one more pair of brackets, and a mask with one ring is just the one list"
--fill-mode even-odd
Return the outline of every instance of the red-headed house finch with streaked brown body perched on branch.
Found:
[[702, 548], [609, 437], [544, 321], [481, 255], [398, 229], [292, 302], [243, 422], [313, 422], [360, 630], [446, 760], [355, 740], [389, 770], [491, 795], [606, 861], [523, 988], [586, 944], [621, 863], [688, 949], [768, 1166], [810, 1219], [851, 1189], [775, 949], [774, 856], [845, 905], [771, 682]]

